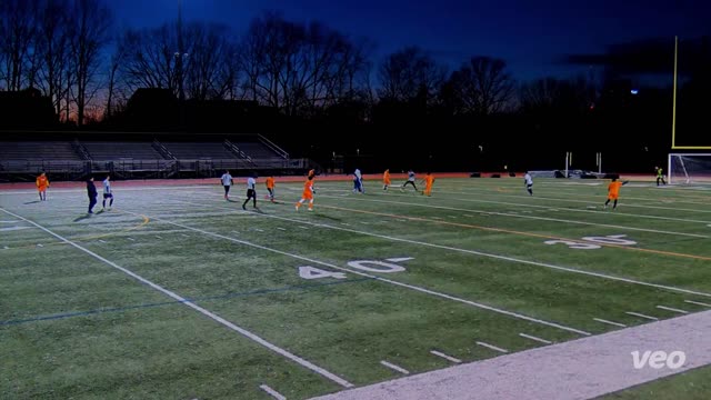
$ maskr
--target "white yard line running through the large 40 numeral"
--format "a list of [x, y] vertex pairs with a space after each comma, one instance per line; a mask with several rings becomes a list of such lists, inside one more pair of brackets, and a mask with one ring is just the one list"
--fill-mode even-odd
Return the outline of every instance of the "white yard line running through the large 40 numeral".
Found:
[[[134, 213], [134, 212], [127, 211], [127, 210], [124, 210], [123, 212]], [[236, 210], [236, 212], [240, 212], [240, 211]], [[241, 211], [241, 212], [249, 212], [249, 211]], [[246, 240], [230, 238], [230, 237], [227, 237], [224, 234], [210, 232], [210, 231], [207, 231], [207, 230], [203, 230], [203, 229], [200, 229], [200, 228], [189, 227], [189, 226], [186, 226], [186, 224], [182, 224], [182, 223], [179, 223], [179, 222], [173, 222], [173, 221], [159, 219], [159, 218], [154, 218], [154, 220], [161, 221], [161, 222], [164, 222], [164, 223], [169, 223], [169, 224], [172, 224], [172, 226], [176, 226], [176, 227], [190, 229], [192, 231], [202, 233], [204, 236], [209, 236], [209, 237], [213, 237], [213, 238], [218, 238], [218, 239], [223, 239], [223, 240], [229, 240], [229, 241], [234, 242], [234, 243], [252, 247], [252, 248], [256, 248], [256, 249], [266, 250], [266, 251], [273, 252], [273, 253], [281, 254], [281, 256], [291, 257], [291, 258], [294, 258], [294, 259], [298, 259], [298, 260], [302, 260], [302, 261], [318, 263], [320, 266], [333, 268], [333, 269], [341, 270], [341, 271], [344, 271], [344, 272], [354, 273], [354, 274], [358, 274], [358, 276], [361, 276], [361, 277], [368, 277], [368, 278], [371, 278], [371, 279], [380, 281], [380, 282], [385, 282], [385, 283], [394, 284], [394, 286], [398, 286], [398, 287], [401, 287], [401, 288], [407, 288], [407, 289], [410, 289], [410, 290], [413, 290], [413, 291], [418, 291], [418, 292], [421, 292], [421, 293], [431, 294], [433, 297], [438, 297], [438, 298], [448, 299], [448, 300], [457, 301], [457, 302], [460, 302], [460, 303], [473, 306], [473, 307], [479, 308], [479, 309], [497, 312], [497, 313], [500, 313], [500, 314], [504, 314], [504, 316], [508, 316], [508, 317], [525, 320], [525, 321], [529, 321], [529, 322], [535, 322], [535, 323], [544, 324], [544, 326], [552, 327], [552, 328], [558, 328], [558, 329], [561, 329], [561, 330], [564, 330], [564, 331], [569, 331], [569, 332], [573, 332], [573, 333], [578, 333], [578, 334], [582, 334], [582, 336], [590, 336], [591, 334], [590, 332], [585, 332], [585, 331], [580, 330], [580, 329], [567, 327], [567, 326], [563, 326], [563, 324], [560, 324], [560, 323], [557, 323], [557, 322], [550, 322], [550, 321], [537, 319], [537, 318], [533, 318], [533, 317], [524, 316], [524, 314], [521, 314], [521, 313], [518, 313], [518, 312], [507, 311], [507, 310], [499, 309], [499, 308], [495, 308], [495, 307], [492, 307], [492, 306], [478, 303], [475, 301], [458, 298], [458, 297], [454, 297], [454, 296], [451, 296], [451, 294], [447, 294], [447, 293], [441, 293], [441, 292], [438, 292], [438, 291], [434, 291], [434, 290], [430, 290], [430, 289], [427, 289], [427, 288], [422, 288], [422, 287], [418, 287], [418, 286], [414, 286], [414, 284], [403, 283], [403, 282], [394, 281], [394, 280], [391, 280], [391, 279], [381, 278], [381, 277], [378, 277], [378, 276], [372, 276], [372, 274], [360, 272], [358, 270], [353, 270], [353, 269], [350, 269], [350, 268], [339, 267], [339, 266], [336, 266], [336, 264], [332, 264], [332, 263], [329, 263], [329, 262], [326, 262], [326, 261], [319, 261], [319, 260], [316, 260], [316, 259], [311, 259], [311, 258], [308, 258], [308, 257], [304, 257], [304, 256], [291, 253], [291, 252], [288, 252], [288, 251], [278, 250], [278, 249], [269, 248], [269, 247], [266, 247], [266, 246], [248, 242]], [[294, 220], [294, 222], [301, 222], [301, 221]], [[337, 228], [337, 229], [341, 229], [341, 228]]]

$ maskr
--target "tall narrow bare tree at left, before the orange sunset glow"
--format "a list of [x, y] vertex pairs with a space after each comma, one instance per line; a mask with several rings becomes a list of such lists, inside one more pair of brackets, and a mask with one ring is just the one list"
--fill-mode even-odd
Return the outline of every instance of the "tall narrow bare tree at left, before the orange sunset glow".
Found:
[[103, 48], [110, 39], [112, 14], [102, 0], [73, 0], [70, 26], [70, 49], [74, 69], [77, 123], [83, 124], [84, 110], [99, 88], [97, 72]]

